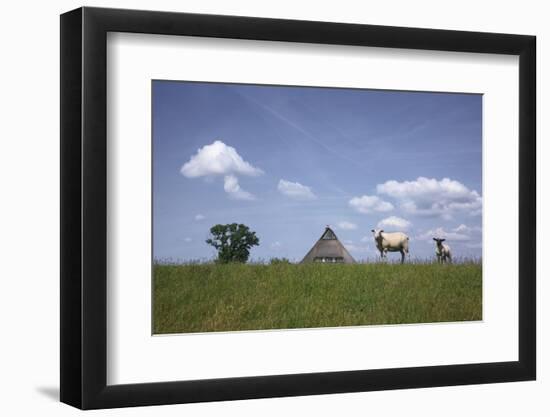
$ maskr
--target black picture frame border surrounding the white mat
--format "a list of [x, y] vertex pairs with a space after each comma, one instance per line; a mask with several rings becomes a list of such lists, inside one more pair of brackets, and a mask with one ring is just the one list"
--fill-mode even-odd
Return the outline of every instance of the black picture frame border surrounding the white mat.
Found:
[[[519, 360], [107, 385], [108, 32], [519, 56]], [[535, 379], [534, 36], [84, 7], [61, 15], [60, 57], [62, 402], [96, 409]]]

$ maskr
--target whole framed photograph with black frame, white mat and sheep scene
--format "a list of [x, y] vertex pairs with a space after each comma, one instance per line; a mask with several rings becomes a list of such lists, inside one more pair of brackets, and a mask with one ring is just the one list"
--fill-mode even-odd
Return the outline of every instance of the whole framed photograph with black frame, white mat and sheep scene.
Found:
[[535, 37], [61, 16], [61, 401], [533, 380]]

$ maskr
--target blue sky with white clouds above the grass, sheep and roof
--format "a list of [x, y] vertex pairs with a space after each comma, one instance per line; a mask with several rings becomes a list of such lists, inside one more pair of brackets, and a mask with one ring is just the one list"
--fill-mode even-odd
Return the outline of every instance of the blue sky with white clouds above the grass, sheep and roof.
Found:
[[479, 257], [481, 152], [481, 95], [153, 81], [153, 255], [211, 259], [236, 222], [253, 259], [298, 261], [325, 225], [357, 260], [373, 228]]

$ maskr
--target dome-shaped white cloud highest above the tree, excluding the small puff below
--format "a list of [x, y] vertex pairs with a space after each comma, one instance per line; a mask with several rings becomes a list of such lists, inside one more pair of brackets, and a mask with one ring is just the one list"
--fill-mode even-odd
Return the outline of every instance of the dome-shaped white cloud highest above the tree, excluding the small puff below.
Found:
[[235, 148], [217, 140], [200, 148], [181, 167], [181, 173], [187, 178], [197, 178], [228, 174], [257, 176], [263, 171], [246, 162]]

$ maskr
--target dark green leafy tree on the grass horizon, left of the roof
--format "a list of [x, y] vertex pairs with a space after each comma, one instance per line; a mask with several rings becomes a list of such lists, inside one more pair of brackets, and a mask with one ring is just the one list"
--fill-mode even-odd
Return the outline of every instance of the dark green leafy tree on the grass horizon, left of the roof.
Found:
[[212, 237], [206, 243], [216, 248], [218, 261], [222, 263], [246, 262], [250, 248], [260, 243], [256, 232], [244, 224], [217, 224], [210, 228], [210, 234]]

